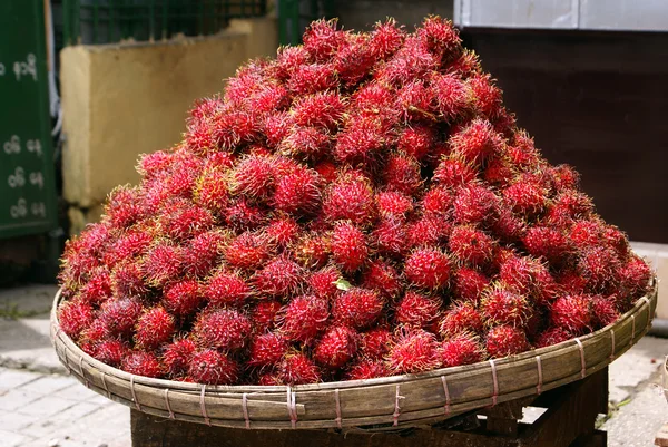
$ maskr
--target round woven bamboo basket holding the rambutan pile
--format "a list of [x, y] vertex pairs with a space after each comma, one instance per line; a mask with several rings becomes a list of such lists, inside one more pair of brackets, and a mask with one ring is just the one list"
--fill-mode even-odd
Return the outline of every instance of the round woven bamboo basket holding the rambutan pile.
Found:
[[62, 332], [51, 337], [79, 381], [111, 400], [170, 419], [249, 429], [426, 426], [463, 412], [539, 395], [601, 370], [651, 325], [657, 281], [617, 322], [593, 333], [519, 356], [370, 380], [286, 386], [205, 386], [132, 376], [85, 353]]

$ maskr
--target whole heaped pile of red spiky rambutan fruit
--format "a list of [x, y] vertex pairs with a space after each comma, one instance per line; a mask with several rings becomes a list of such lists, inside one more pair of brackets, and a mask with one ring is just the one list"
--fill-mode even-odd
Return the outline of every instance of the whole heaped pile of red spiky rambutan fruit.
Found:
[[316, 21], [239, 68], [62, 257], [61, 329], [134, 375], [298, 385], [602, 328], [651, 271], [450, 22]]

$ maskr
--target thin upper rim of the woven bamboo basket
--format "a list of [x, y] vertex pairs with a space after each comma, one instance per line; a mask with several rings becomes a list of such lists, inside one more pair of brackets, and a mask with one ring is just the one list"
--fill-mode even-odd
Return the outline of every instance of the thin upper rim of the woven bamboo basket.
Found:
[[[60, 304], [60, 301], [62, 300], [61, 292], [62, 292], [62, 290], [59, 289], [58, 292], [56, 293], [56, 297], [53, 299], [53, 305], [51, 308], [50, 325], [51, 325], [52, 342], [56, 343], [57, 336], [62, 334], [62, 336], [65, 336], [67, 348], [72, 350], [73, 353], [77, 354], [79, 358], [82, 358], [86, 361], [86, 363], [89, 365], [90, 367], [94, 367], [100, 371], [112, 370], [114, 375], [120, 379], [126, 379], [128, 381], [132, 380], [135, 383], [140, 383], [140, 385], [146, 385], [146, 386], [151, 386], [151, 387], [170, 388], [170, 389], [175, 389], [175, 390], [178, 389], [178, 390], [187, 390], [187, 391], [196, 391], [196, 392], [199, 392], [204, 387], [206, 389], [206, 391], [210, 391], [210, 392], [232, 392], [232, 393], [235, 393], [235, 392], [238, 392], [238, 393], [242, 393], [242, 392], [298, 392], [298, 391], [321, 391], [321, 390], [333, 391], [336, 389], [344, 390], [344, 389], [351, 389], [351, 388], [362, 388], [362, 387], [367, 388], [367, 387], [382, 386], [382, 385], [399, 385], [399, 383], [403, 383], [406, 381], [416, 382], [416, 381], [433, 379], [433, 378], [443, 377], [443, 376], [448, 377], [450, 375], [458, 375], [458, 373], [462, 373], [462, 372], [466, 372], [466, 371], [477, 371], [477, 370], [479, 370], [480, 367], [490, 365], [490, 360], [484, 360], [484, 361], [477, 362], [477, 363], [450, 367], [450, 368], [439, 368], [439, 369], [420, 372], [420, 373], [390, 376], [390, 377], [381, 377], [381, 378], [373, 378], [373, 379], [328, 381], [328, 382], [296, 385], [296, 386], [287, 386], [287, 385], [279, 385], [279, 386], [205, 385], [205, 383], [193, 383], [193, 382], [184, 382], [184, 381], [169, 380], [169, 379], [150, 378], [150, 377], [145, 377], [145, 376], [135, 376], [135, 375], [126, 372], [119, 368], [114, 368], [107, 363], [102, 363], [101, 361], [95, 359], [92, 356], [89, 356], [84, 350], [81, 350], [79, 348], [79, 346], [60, 329], [57, 310], [58, 310], [58, 305]], [[514, 363], [520, 360], [532, 359], [537, 356], [542, 357], [542, 356], [550, 354], [550, 353], [557, 354], [558, 352], [560, 352], [562, 350], [572, 348], [573, 342], [583, 343], [588, 340], [601, 337], [602, 334], [608, 333], [611, 329], [622, 325], [629, 319], [635, 319], [635, 314], [639, 310], [641, 310], [642, 307], [645, 307], [646, 304], [649, 304], [651, 308], [651, 302], [655, 302], [655, 307], [656, 307], [657, 292], [658, 292], [658, 280], [656, 279], [656, 276], [652, 276], [652, 279], [650, 280], [650, 288], [649, 288], [648, 292], [645, 295], [638, 298], [638, 300], [633, 303], [633, 307], [630, 310], [628, 310], [627, 312], [625, 312], [613, 323], [610, 323], [610, 324], [608, 324], [597, 331], [590, 332], [588, 334], [572, 338], [569, 340], [562, 341], [560, 343], [557, 343], [557, 344], [552, 344], [552, 346], [544, 347], [544, 348], [530, 349], [525, 352], [521, 352], [515, 356], [509, 356], [509, 357], [504, 357], [504, 358], [493, 359], [493, 363], [497, 368], [500, 368], [503, 366]], [[648, 318], [648, 325], [651, 324], [652, 318], [654, 318], [652, 315], [650, 315], [650, 318]]]

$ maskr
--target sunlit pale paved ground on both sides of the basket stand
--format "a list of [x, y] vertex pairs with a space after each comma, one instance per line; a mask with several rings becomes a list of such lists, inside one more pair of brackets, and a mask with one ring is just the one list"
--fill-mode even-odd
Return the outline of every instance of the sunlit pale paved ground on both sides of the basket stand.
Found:
[[[0, 447], [129, 447], [129, 409], [69, 377], [51, 348], [56, 290], [0, 290]], [[645, 337], [610, 366], [610, 411], [600, 421], [609, 447], [652, 446], [668, 422], [666, 354], [667, 339]]]

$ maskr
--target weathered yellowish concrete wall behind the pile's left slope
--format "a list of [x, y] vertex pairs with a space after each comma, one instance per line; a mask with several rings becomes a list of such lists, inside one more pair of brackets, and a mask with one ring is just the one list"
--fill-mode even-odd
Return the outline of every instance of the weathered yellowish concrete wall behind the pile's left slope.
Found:
[[71, 232], [99, 218], [116, 185], [139, 179], [139, 154], [181, 139], [195, 99], [220, 91], [239, 65], [277, 46], [275, 20], [250, 19], [233, 20], [212, 37], [63, 49], [62, 171]]

